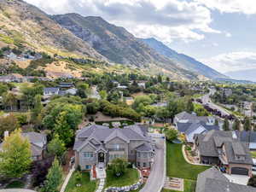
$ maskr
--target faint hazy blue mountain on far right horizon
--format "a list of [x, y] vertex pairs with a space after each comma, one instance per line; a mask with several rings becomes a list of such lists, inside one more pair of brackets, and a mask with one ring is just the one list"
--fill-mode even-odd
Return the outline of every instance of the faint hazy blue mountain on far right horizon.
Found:
[[256, 69], [246, 69], [246, 70], [239, 70], [234, 72], [227, 72], [224, 73], [226, 76], [229, 76], [232, 79], [239, 79], [239, 80], [248, 80], [256, 82]]

